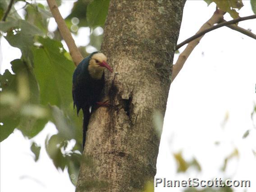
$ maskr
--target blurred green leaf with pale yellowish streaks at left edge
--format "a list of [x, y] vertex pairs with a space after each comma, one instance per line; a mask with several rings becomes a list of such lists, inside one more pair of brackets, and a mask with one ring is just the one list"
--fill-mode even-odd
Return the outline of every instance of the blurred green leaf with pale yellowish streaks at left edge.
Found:
[[39, 87], [32, 69], [21, 59], [11, 62], [12, 75], [8, 70], [1, 75], [1, 141], [11, 134], [14, 128], [26, 137], [34, 137], [48, 122], [48, 112], [39, 106]]

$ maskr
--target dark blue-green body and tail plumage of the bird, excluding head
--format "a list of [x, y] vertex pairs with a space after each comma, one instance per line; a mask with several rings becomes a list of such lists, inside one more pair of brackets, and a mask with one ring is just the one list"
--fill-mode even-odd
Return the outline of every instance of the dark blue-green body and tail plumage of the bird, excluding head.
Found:
[[74, 107], [83, 111], [83, 146], [86, 139], [87, 126], [90, 119], [90, 107], [94, 107], [97, 101], [101, 99], [101, 91], [104, 87], [104, 73], [100, 79], [92, 78], [88, 66], [91, 57], [99, 52], [93, 52], [87, 58], [83, 59], [73, 73], [73, 102]]

